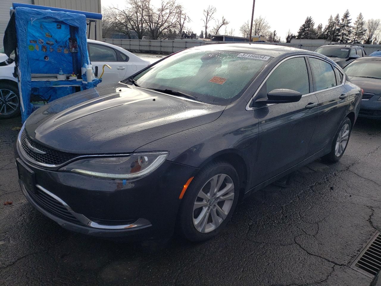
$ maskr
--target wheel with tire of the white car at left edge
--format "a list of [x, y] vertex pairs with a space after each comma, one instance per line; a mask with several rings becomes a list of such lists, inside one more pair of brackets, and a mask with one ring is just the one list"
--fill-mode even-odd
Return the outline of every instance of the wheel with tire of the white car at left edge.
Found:
[[8, 119], [20, 114], [19, 89], [15, 84], [0, 84], [0, 119]]

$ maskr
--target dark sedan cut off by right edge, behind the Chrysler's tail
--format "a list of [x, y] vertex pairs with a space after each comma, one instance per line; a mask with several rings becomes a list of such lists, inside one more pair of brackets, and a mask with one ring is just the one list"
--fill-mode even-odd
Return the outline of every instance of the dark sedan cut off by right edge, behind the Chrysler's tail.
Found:
[[364, 90], [359, 116], [381, 119], [381, 56], [356, 59], [344, 71]]

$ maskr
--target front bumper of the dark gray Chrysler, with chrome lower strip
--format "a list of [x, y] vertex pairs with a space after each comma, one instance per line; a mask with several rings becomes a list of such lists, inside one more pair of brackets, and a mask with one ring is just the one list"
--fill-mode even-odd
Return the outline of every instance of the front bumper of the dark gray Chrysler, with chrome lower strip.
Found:
[[150, 239], [173, 234], [179, 194], [196, 168], [165, 161], [136, 180], [107, 180], [42, 169], [15, 157], [35, 174], [35, 190], [22, 193], [37, 210], [63, 228], [103, 238]]

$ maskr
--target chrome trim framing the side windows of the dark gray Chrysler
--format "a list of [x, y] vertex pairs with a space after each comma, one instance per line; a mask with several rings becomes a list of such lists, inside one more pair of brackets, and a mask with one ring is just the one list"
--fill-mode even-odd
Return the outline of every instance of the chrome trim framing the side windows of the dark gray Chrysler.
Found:
[[[330, 61], [327, 60], [327, 58], [323, 59], [323, 58], [320, 58], [318, 56], [312, 56], [312, 55], [295, 55], [295, 56], [290, 56], [288, 58], [285, 58], [285, 59], [282, 59], [282, 61], [280, 61], [275, 67], [273, 67], [273, 69], [269, 72], [269, 74], [266, 76], [266, 78], [263, 80], [263, 82], [261, 83], [261, 85], [259, 85], [258, 89], [256, 90], [256, 92], [254, 93], [254, 95], [252, 96], [251, 100], [249, 100], [249, 102], [247, 103], [246, 105], [246, 110], [247, 111], [250, 111], [250, 110], [256, 110], [256, 109], [259, 109], [259, 108], [264, 108], [264, 107], [268, 107], [268, 106], [271, 106], [271, 105], [274, 105], [274, 104], [278, 104], [278, 103], [270, 103], [270, 104], [266, 104], [264, 106], [256, 106], [256, 107], [249, 107], [250, 106], [250, 103], [254, 100], [255, 96], [258, 94], [259, 90], [261, 90], [262, 86], [264, 85], [264, 83], [266, 82], [266, 80], [271, 76], [272, 72], [275, 71], [275, 69], [280, 66], [280, 64], [282, 64], [283, 62], [287, 61], [288, 59], [292, 59], [292, 58], [305, 58], [305, 57], [309, 57], [309, 58], [317, 58], [317, 59], [320, 59], [322, 61], [325, 61], [327, 62], [328, 64], [330, 64], [331, 66], [333, 67], [336, 67], [338, 69], [339, 72], [341, 72], [341, 74], [343, 75], [343, 80], [341, 81], [341, 84], [339, 85], [336, 85], [334, 87], [330, 87], [330, 88], [325, 88], [325, 89], [322, 89], [322, 90], [317, 90], [315, 92], [311, 92], [311, 93], [307, 93], [307, 94], [304, 94], [302, 95], [302, 97], [305, 97], [305, 96], [309, 96], [309, 95], [313, 95], [313, 94], [316, 94], [316, 93], [320, 93], [320, 92], [325, 92], [327, 90], [331, 90], [333, 88], [337, 88], [337, 87], [341, 87], [345, 84], [345, 73], [343, 71], [343, 69], [341, 69], [341, 67], [339, 67], [338, 65], [333, 65]], [[335, 71], [333, 71], [335, 72]]]

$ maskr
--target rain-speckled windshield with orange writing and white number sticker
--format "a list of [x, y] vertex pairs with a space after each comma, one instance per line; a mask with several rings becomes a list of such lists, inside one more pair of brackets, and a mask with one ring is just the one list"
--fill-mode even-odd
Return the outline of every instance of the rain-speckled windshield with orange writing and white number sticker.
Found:
[[134, 77], [140, 87], [174, 90], [202, 102], [229, 104], [271, 60], [234, 51], [191, 49], [170, 56]]

